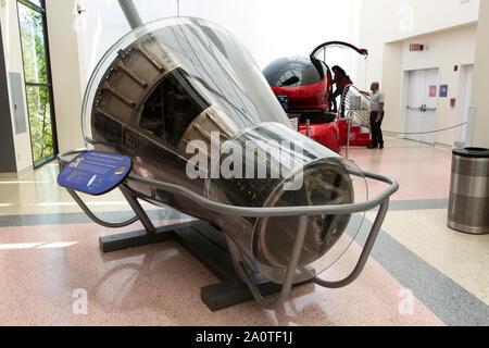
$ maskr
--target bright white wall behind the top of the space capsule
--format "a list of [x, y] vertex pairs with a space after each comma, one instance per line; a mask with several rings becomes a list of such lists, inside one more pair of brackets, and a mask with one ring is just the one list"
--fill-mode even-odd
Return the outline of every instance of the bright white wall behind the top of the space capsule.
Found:
[[[217, 23], [235, 34], [264, 69], [287, 55], [306, 55], [328, 40], [351, 41], [359, 0], [180, 0], [180, 15]], [[87, 10], [87, 71], [129, 30], [116, 1], [80, 0]], [[143, 22], [175, 16], [177, 1], [135, 0]], [[356, 44], [356, 42], [353, 42]], [[349, 63], [347, 71], [351, 70]]]

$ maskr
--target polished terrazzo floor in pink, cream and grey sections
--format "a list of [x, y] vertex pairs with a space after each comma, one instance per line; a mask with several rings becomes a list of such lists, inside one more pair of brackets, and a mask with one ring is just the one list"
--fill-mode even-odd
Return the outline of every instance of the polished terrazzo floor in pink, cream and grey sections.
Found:
[[[446, 224], [451, 152], [388, 139], [384, 150], [352, 148], [349, 158], [400, 183], [372, 257], [352, 285], [299, 286], [275, 311], [253, 300], [210, 311], [200, 288], [218, 279], [177, 241], [102, 253], [100, 236], [142, 226], [91, 223], [57, 186], [55, 163], [20, 178], [0, 175], [0, 325], [489, 325], [489, 236]], [[384, 187], [368, 182], [368, 196]], [[106, 219], [128, 216], [117, 191], [85, 199]], [[156, 225], [189, 220], [143, 207]], [[366, 213], [355, 243], [325, 278], [353, 268], [375, 213]]]

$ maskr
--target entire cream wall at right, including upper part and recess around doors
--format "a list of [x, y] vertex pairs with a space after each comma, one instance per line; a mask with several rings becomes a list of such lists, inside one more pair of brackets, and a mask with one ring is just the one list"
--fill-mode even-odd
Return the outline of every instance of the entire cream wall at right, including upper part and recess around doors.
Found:
[[[487, 2], [487, 0], [482, 1]], [[363, 0], [359, 41], [369, 50], [366, 66], [359, 65], [358, 85], [368, 88], [374, 80], [386, 92], [384, 128], [402, 132], [403, 72], [440, 69], [440, 84], [449, 85], [449, 97], [439, 99], [437, 128], [454, 125], [459, 74], [454, 65], [474, 61], [479, 0]], [[410, 44], [425, 44], [428, 50], [409, 52]], [[452, 145], [452, 132], [436, 135], [436, 142]]]

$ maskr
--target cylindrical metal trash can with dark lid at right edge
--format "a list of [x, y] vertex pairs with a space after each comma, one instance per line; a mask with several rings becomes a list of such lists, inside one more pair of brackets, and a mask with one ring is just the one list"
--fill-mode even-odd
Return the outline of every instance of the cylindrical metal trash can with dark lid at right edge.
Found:
[[489, 234], [489, 149], [453, 150], [448, 225], [463, 233]]

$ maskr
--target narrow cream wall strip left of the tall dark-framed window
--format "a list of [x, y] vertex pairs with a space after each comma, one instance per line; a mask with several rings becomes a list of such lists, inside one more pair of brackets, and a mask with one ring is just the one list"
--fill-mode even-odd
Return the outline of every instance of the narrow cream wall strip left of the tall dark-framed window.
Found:
[[[5, 55], [5, 71], [7, 73], [20, 73], [22, 77], [22, 83], [24, 84], [24, 67], [22, 62], [22, 50], [21, 50], [21, 35], [18, 32], [18, 20], [17, 20], [17, 7], [15, 0], [4, 0], [0, 1], [0, 23], [2, 26], [2, 39], [3, 49]], [[9, 85], [9, 100], [10, 98], [10, 80]], [[25, 101], [25, 89], [23, 88], [24, 102], [25, 102], [25, 124], [28, 125], [27, 117], [27, 102]], [[12, 104], [10, 105], [12, 109]], [[0, 111], [1, 112], [1, 111]], [[12, 124], [13, 122], [13, 110], [11, 110]], [[12, 127], [14, 128], [14, 127]], [[30, 151], [30, 137], [29, 132], [21, 135], [13, 134], [14, 147], [15, 147], [15, 158], [17, 172], [28, 170], [33, 166], [33, 154]]]

